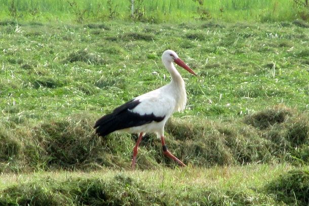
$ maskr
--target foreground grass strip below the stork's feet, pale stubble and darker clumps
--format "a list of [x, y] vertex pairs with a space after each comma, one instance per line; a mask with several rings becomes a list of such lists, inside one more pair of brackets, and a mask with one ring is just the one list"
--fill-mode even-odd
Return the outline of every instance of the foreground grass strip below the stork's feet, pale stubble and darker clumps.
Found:
[[[287, 170], [291, 172], [286, 173]], [[300, 171], [283, 164], [4, 175], [0, 202], [4, 205], [306, 205], [308, 177], [307, 168]], [[295, 196], [291, 196], [293, 192]]]

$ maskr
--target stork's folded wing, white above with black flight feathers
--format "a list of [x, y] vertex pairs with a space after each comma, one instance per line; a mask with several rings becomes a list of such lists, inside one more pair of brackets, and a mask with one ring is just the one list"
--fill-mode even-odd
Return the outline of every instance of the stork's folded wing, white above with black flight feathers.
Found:
[[133, 100], [115, 108], [110, 114], [106, 114], [97, 120], [94, 128], [100, 136], [106, 136], [117, 130], [138, 127], [160, 122], [170, 117], [176, 105], [176, 100], [171, 96], [169, 88], [148, 92]]

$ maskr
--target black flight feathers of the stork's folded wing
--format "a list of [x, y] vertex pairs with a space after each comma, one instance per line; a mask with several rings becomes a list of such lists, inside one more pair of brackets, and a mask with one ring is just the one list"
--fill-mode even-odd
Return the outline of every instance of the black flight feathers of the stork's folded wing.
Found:
[[152, 121], [160, 122], [165, 116], [155, 116], [153, 113], [140, 115], [129, 110], [140, 104], [139, 100], [131, 100], [98, 119], [94, 125], [99, 136], [106, 136], [117, 130], [138, 127]]

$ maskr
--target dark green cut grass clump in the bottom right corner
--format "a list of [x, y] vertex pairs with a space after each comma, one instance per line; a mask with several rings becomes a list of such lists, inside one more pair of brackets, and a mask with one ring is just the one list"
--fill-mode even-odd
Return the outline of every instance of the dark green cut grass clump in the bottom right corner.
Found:
[[309, 204], [309, 171], [292, 170], [269, 182], [265, 189], [276, 201], [289, 205]]

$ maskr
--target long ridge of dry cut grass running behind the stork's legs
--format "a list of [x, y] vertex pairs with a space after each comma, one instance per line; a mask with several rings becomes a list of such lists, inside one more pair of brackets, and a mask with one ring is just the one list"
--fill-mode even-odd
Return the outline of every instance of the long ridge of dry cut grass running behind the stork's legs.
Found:
[[[262, 119], [265, 114], [269, 115]], [[254, 122], [262, 122], [263, 126], [267, 122], [267, 127], [247, 126], [242, 120], [222, 125], [202, 119], [187, 123], [186, 119], [172, 118], [166, 125], [167, 145], [184, 163], [201, 167], [274, 162], [304, 164], [309, 160], [306, 114], [292, 114], [288, 108], [276, 107], [249, 115], [245, 122], [252, 118], [258, 118]], [[99, 138], [92, 128], [94, 120], [94, 116], [83, 114], [11, 133], [2, 129], [2, 156], [6, 156], [3, 160], [15, 162], [13, 168], [3, 171], [15, 171], [16, 167], [18, 170], [129, 168], [136, 137], [112, 134]], [[137, 167], [150, 169], [160, 165], [174, 168], [176, 163], [164, 157], [155, 135], [144, 137]]]

